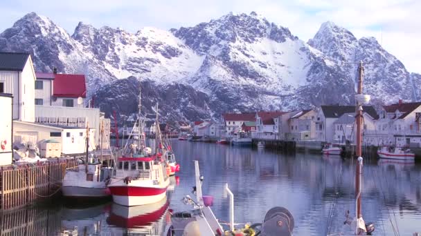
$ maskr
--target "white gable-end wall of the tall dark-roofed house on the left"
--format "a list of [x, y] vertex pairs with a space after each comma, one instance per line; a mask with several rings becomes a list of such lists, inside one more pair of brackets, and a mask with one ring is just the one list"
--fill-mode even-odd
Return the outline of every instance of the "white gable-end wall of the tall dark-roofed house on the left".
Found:
[[30, 56], [21, 72], [21, 121], [35, 122], [35, 71]]

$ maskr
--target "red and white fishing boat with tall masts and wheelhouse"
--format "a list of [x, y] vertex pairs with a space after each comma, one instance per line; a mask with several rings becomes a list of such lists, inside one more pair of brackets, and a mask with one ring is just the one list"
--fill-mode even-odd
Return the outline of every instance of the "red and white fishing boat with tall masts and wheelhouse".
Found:
[[[156, 124], [159, 124], [158, 104], [155, 112]], [[116, 175], [111, 178], [108, 186], [116, 204], [123, 206], [153, 204], [166, 196], [170, 178], [169, 166], [163, 157], [161, 132], [159, 126], [156, 126], [155, 153], [152, 154], [152, 148], [145, 146], [144, 127], [139, 92], [138, 118], [125, 144], [123, 155], [117, 159]], [[134, 135], [135, 130], [137, 132]]]

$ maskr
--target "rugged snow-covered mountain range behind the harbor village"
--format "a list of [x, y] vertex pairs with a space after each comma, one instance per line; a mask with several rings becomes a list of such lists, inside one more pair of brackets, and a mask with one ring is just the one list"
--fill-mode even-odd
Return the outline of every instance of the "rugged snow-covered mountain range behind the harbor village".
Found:
[[[107, 113], [158, 101], [167, 119], [211, 119], [233, 110], [291, 110], [350, 104], [356, 66], [366, 66], [366, 92], [384, 101], [419, 99], [421, 76], [410, 74], [374, 38], [323, 23], [308, 43], [264, 17], [227, 14], [190, 28], [136, 33], [79, 23], [73, 35], [50, 19], [26, 14], [0, 34], [0, 50], [27, 51], [36, 70], [84, 73], [88, 95]], [[125, 79], [129, 77], [128, 79]], [[136, 78], [141, 83], [136, 82]]]

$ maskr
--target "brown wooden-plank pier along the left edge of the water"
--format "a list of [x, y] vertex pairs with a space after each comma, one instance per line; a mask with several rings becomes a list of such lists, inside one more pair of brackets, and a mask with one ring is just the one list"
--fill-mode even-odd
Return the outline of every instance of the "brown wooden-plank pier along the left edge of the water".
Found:
[[78, 166], [75, 159], [45, 161], [0, 170], [1, 210], [19, 208], [58, 193], [67, 168]]

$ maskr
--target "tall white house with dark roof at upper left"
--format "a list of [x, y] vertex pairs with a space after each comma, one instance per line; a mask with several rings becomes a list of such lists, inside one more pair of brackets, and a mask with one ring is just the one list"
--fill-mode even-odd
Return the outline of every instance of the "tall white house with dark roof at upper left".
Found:
[[35, 71], [28, 53], [0, 52], [0, 93], [13, 95], [13, 119], [35, 121]]

